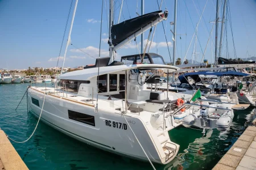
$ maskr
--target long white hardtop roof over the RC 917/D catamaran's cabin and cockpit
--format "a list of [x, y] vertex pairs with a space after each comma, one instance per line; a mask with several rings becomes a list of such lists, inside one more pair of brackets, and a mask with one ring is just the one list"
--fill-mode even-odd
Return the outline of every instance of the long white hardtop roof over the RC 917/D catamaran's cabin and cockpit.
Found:
[[[100, 69], [98, 73], [98, 69]], [[89, 80], [97, 75], [115, 73], [118, 71], [125, 71], [131, 69], [138, 70], [163, 70], [164, 73], [171, 73], [179, 70], [178, 67], [169, 65], [156, 65], [156, 64], [138, 64], [138, 65], [119, 65], [119, 66], [108, 66], [108, 67], [94, 67], [91, 69], [84, 69], [78, 71], [72, 71], [69, 73], [62, 74], [60, 79], [64, 80]]]

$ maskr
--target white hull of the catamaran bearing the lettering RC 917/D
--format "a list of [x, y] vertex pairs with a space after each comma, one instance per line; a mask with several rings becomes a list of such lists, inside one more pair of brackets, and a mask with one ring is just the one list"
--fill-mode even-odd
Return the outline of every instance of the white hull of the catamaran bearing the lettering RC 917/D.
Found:
[[[38, 100], [40, 107], [33, 104], [32, 100], [34, 99], [32, 98]], [[28, 103], [32, 113], [37, 117], [40, 115], [43, 99], [43, 92], [28, 88]], [[158, 137], [150, 134], [152, 127], [148, 125], [148, 122], [145, 124], [139, 117], [125, 116], [126, 122], [122, 114], [118, 112], [113, 113], [99, 108], [98, 113], [95, 113], [94, 109], [93, 105], [74, 103], [70, 100], [61, 99], [61, 97], [46, 95], [41, 120], [64, 134], [102, 150], [148, 161], [129, 125], [127, 125], [129, 122], [152, 162], [167, 164], [176, 156], [177, 151], [171, 156], [172, 159], [166, 160], [166, 154], [160, 152], [163, 147], [162, 143], [155, 139]], [[94, 116], [94, 126], [70, 119], [69, 111]], [[165, 131], [163, 135], [166, 136], [166, 142], [172, 143], [168, 131]], [[176, 150], [179, 150], [179, 145], [176, 146]]]

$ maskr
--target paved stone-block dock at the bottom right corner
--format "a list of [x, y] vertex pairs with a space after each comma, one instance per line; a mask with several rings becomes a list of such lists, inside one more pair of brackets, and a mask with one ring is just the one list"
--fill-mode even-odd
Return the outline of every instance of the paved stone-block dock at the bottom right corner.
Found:
[[215, 165], [214, 170], [256, 169], [256, 119]]

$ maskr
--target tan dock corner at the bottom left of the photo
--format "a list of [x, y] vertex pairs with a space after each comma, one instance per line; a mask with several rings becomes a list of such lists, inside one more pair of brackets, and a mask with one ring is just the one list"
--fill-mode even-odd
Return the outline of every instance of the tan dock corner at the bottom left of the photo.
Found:
[[0, 169], [1, 170], [25, 170], [27, 165], [20, 158], [4, 131], [0, 130]]

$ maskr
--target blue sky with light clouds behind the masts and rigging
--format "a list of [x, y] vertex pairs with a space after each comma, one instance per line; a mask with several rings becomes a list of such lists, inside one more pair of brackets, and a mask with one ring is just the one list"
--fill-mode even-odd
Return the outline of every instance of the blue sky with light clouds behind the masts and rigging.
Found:
[[[160, 3], [160, 0], [158, 0]], [[221, 1], [221, 0], [220, 0]], [[121, 0], [116, 0], [115, 23], [117, 23], [119, 15], [119, 4]], [[123, 3], [123, 10], [121, 15], [121, 22], [134, 18], [137, 16], [136, 12], [141, 14], [141, 1], [125, 0]], [[85, 1], [80, 0], [77, 6], [75, 22], [73, 24], [73, 31], [71, 35], [72, 44], [77, 48], [84, 50], [91, 56], [98, 56], [98, 48], [100, 42], [100, 20], [101, 20], [101, 0]], [[57, 64], [57, 57], [61, 40], [64, 33], [65, 23], [71, 1], [54, 0], [54, 1], [34, 1], [34, 0], [0, 0], [0, 68], [9, 69], [27, 69], [31, 67], [53, 67]], [[75, 5], [75, 0], [73, 6]], [[205, 6], [206, 5], [206, 6]], [[199, 22], [201, 12], [205, 7], [203, 18], [198, 27], [198, 42], [197, 42], [197, 60], [200, 61], [204, 49], [207, 45], [209, 32], [212, 29], [212, 23], [216, 15], [216, 0], [178, 0], [177, 11], [177, 53], [176, 57], [184, 58], [188, 50], [189, 43], [192, 40], [195, 32], [196, 24]], [[245, 58], [248, 50], [249, 56], [256, 54], [256, 1], [255, 0], [229, 0], [230, 16], [233, 26], [234, 45], [236, 48], [236, 56], [238, 58]], [[107, 9], [106, 9], [107, 8]], [[108, 22], [107, 11], [109, 8], [109, 1], [104, 0], [104, 13], [102, 22], [102, 53], [101, 56], [108, 56]], [[167, 21], [164, 21], [164, 29], [166, 29], [166, 36], [168, 44], [170, 44], [170, 53], [172, 58], [172, 34], [170, 32], [170, 22], [174, 19], [174, 0], [163, 1], [162, 10], [167, 8], [169, 16]], [[106, 11], [107, 10], [107, 11]], [[158, 10], [156, 0], [144, 0], [144, 12], [152, 12]], [[73, 12], [73, 7], [72, 7]], [[222, 9], [220, 10], [220, 15]], [[71, 19], [68, 23], [68, 29]], [[229, 49], [229, 57], [234, 58], [234, 48], [232, 33], [230, 29], [230, 19], [226, 21], [226, 33], [224, 34], [224, 47], [222, 48], [222, 57], [227, 56], [226, 45]], [[220, 25], [220, 24], [219, 24]], [[220, 27], [219, 27], [220, 30]], [[213, 29], [213, 39], [215, 36], [215, 28]], [[220, 32], [220, 31], [219, 31]], [[68, 30], [67, 30], [68, 33]], [[186, 34], [186, 35], [185, 35]], [[148, 32], [144, 33], [146, 41]], [[181, 39], [180, 39], [181, 37]], [[61, 56], [64, 55], [64, 48], [67, 40], [67, 34], [64, 41]], [[138, 45], [141, 37], [137, 38]], [[151, 52], [159, 53], [166, 61], [170, 61], [166, 40], [162, 24], [158, 24], [154, 36], [153, 48]], [[187, 53], [187, 59], [191, 59], [194, 39]], [[140, 46], [139, 46], [140, 49]], [[214, 52], [214, 40], [213, 40]], [[118, 56], [138, 53], [135, 42], [124, 46], [117, 51]], [[213, 53], [214, 57], [214, 53]], [[211, 42], [209, 42], [205, 58], [211, 60]], [[63, 60], [59, 62], [62, 65]], [[65, 67], [75, 67], [80, 65], [87, 65], [94, 63], [94, 59], [77, 50], [74, 46], [68, 47], [67, 60]]]

